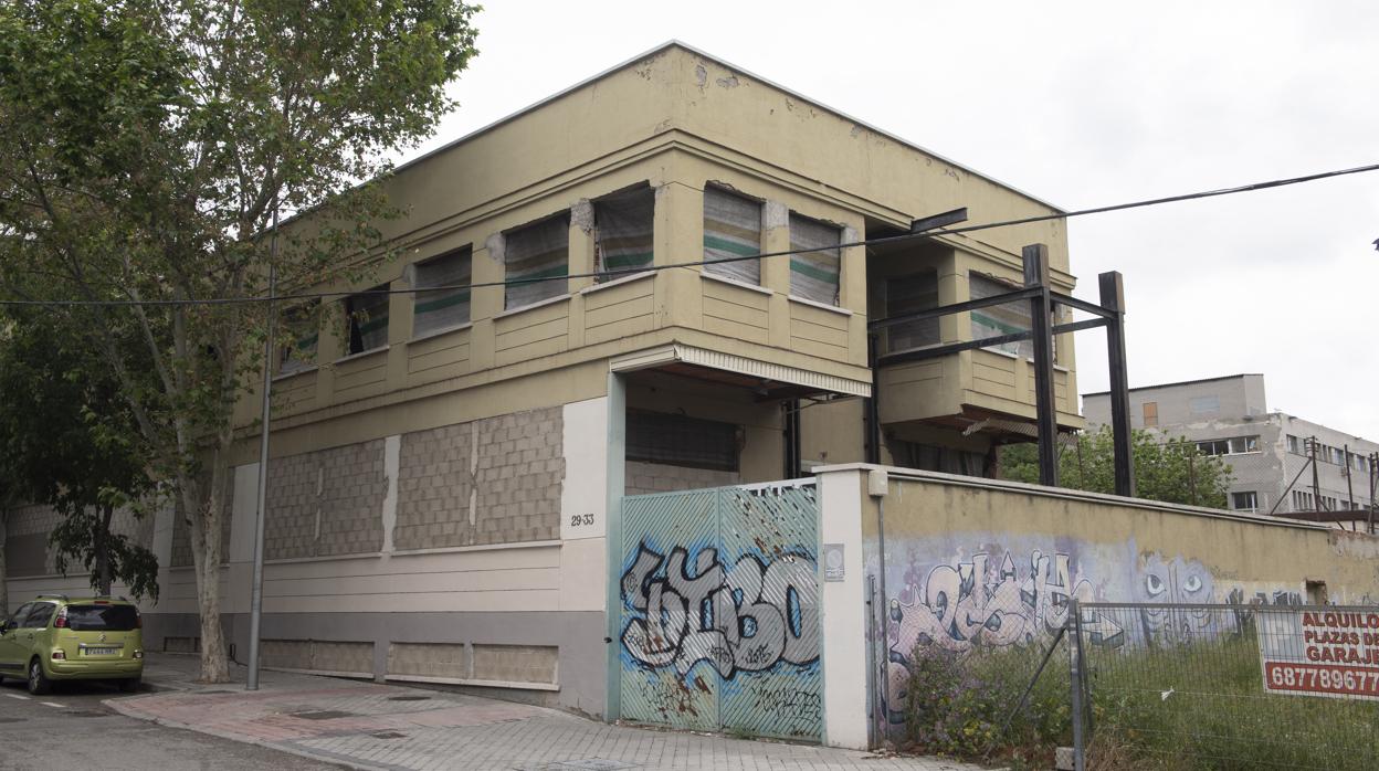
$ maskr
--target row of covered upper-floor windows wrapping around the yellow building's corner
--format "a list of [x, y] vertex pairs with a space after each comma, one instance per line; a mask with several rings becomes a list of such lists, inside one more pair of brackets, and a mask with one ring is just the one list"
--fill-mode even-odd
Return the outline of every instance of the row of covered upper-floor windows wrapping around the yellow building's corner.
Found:
[[[705, 272], [749, 284], [761, 283], [764, 203], [709, 186], [703, 194]], [[593, 201], [594, 272], [607, 281], [651, 268], [655, 192], [638, 185]], [[790, 294], [826, 305], [838, 303], [843, 230], [790, 212]], [[753, 259], [757, 258], [757, 259]], [[570, 212], [503, 233], [503, 308], [516, 309], [564, 295], [570, 276]], [[412, 334], [425, 335], [470, 320], [472, 248], [465, 247], [410, 268], [416, 290]], [[436, 287], [436, 288], [432, 288]], [[364, 353], [387, 343], [387, 284], [345, 299], [346, 353]], [[935, 288], [935, 299], [938, 291]], [[309, 367], [316, 359], [316, 308], [288, 312], [285, 323], [295, 345], [284, 350], [281, 372]]]

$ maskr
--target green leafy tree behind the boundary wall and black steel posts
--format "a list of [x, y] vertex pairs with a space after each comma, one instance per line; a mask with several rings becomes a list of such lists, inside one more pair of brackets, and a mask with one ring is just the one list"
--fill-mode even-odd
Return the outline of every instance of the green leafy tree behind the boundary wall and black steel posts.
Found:
[[[1186, 439], [1162, 441], [1157, 434], [1134, 430], [1135, 494], [1150, 501], [1226, 508], [1230, 466], [1207, 455]], [[1114, 445], [1110, 428], [1077, 436], [1074, 447], [1059, 451], [1059, 484], [1091, 492], [1116, 492]], [[1038, 484], [1038, 458], [1033, 444], [1001, 448], [1001, 479]]]

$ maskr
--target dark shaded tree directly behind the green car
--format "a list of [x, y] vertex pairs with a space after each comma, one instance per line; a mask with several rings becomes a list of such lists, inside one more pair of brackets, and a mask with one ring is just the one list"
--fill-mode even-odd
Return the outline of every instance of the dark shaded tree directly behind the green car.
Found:
[[0, 330], [0, 465], [11, 503], [62, 514], [50, 534], [59, 572], [76, 560], [99, 594], [119, 581], [137, 599], [157, 600], [157, 557], [112, 531], [117, 510], [145, 514], [153, 488], [130, 407], [80, 335], [28, 316]]

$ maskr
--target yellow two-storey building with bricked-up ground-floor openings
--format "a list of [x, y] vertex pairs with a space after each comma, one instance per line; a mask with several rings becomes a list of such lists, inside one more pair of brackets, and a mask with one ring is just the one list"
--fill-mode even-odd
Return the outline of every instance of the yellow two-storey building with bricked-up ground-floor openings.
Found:
[[[1031, 243], [1056, 291], [1074, 284], [1058, 221], [849, 246], [958, 207], [980, 222], [1059, 210], [680, 43], [401, 166], [386, 190], [407, 214], [381, 228], [404, 257], [359, 257], [367, 280], [310, 287], [360, 292], [330, 323], [287, 313], [263, 663], [590, 714], [627, 567], [608, 546], [625, 494], [863, 461], [870, 397], [883, 463], [989, 476], [1009, 426], [1034, 421], [1029, 343], [887, 357], [1025, 328], [1027, 308], [891, 327], [876, 372], [867, 321], [1008, 291]], [[798, 248], [818, 251], [756, 257]], [[1073, 430], [1071, 335], [1056, 345]], [[225, 519], [241, 655], [256, 414], [245, 393]], [[39, 559], [46, 516], [11, 524], [14, 549], [39, 548], [11, 560], [12, 597], [83, 583]], [[141, 527], [164, 565], [148, 643], [196, 650], [186, 527]]]

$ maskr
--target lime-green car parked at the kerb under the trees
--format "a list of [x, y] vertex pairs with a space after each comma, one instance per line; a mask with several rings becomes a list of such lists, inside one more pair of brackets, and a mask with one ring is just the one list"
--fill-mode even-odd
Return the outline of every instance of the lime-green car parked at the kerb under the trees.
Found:
[[39, 594], [0, 622], [0, 680], [28, 680], [34, 695], [54, 680], [119, 680], [121, 691], [135, 691], [142, 626], [139, 608], [124, 597]]

